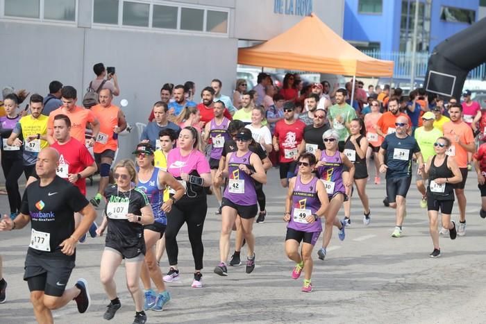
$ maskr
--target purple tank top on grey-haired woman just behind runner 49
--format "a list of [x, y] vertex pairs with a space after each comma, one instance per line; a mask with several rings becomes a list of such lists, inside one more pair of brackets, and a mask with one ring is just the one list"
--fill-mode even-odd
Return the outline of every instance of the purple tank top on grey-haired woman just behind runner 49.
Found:
[[340, 151], [336, 151], [333, 156], [328, 156], [326, 150], [324, 150], [321, 153], [320, 161], [326, 162], [324, 167], [317, 169], [317, 172], [319, 173], [319, 178], [324, 181], [328, 196], [333, 196], [336, 192], [345, 194], [346, 188], [344, 188], [344, 183], [342, 182], [342, 168], [344, 164], [341, 160]]

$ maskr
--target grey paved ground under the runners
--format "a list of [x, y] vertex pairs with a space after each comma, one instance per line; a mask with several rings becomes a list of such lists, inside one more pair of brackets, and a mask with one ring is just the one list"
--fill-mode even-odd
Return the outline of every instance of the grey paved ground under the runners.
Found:
[[[476, 177], [469, 175], [467, 235], [455, 241], [441, 237], [442, 257], [438, 259], [428, 257], [433, 246], [417, 190], [412, 187], [408, 197], [403, 237], [392, 239], [394, 212], [381, 203], [385, 186], [370, 182], [371, 224], [364, 228], [359, 199], [353, 197], [352, 227], [346, 230], [344, 242], [333, 234], [325, 262], [316, 257], [312, 293], [301, 293], [302, 281], [290, 278], [294, 264], [283, 251], [285, 223], [281, 221], [285, 191], [278, 185], [276, 170], [269, 171], [271, 184], [265, 187], [269, 217], [265, 223], [255, 224], [257, 265], [251, 275], [244, 273], [244, 267], [229, 268], [227, 278], [212, 273], [219, 259], [220, 221], [211, 197], [203, 234], [204, 288], [190, 287], [193, 262], [184, 228], [178, 236], [182, 281], [169, 284], [173, 299], [163, 312], [148, 312], [148, 323], [486, 323], [486, 223], [478, 216]], [[88, 186], [88, 191], [91, 196], [95, 188]], [[0, 206], [1, 212], [8, 210], [6, 196], [0, 196]], [[457, 219], [457, 207], [453, 214]], [[8, 280], [8, 300], [0, 305], [0, 323], [35, 322], [28, 287], [22, 281], [28, 233], [28, 228], [0, 233]], [[79, 277], [88, 280], [93, 300], [90, 311], [78, 314], [73, 302], [54, 312], [56, 323], [108, 323], [102, 318], [108, 300], [99, 284], [102, 250], [102, 238], [81, 244], [70, 282], [74, 284]], [[165, 257], [161, 264], [167, 271]], [[125, 287], [123, 266], [116, 280], [123, 307], [114, 323], [131, 323], [135, 310]]]

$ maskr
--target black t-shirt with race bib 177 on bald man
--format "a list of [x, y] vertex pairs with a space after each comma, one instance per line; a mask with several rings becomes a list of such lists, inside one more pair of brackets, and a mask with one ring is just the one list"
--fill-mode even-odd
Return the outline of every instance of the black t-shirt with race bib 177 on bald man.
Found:
[[[62, 253], [59, 244], [74, 232], [74, 212], [83, 210], [87, 204], [89, 202], [77, 187], [58, 176], [45, 187], [40, 186], [40, 181], [28, 185], [20, 212], [31, 216], [31, 246], [37, 248], [29, 247], [27, 253], [76, 259], [75, 254]], [[41, 233], [34, 235], [34, 231]]]

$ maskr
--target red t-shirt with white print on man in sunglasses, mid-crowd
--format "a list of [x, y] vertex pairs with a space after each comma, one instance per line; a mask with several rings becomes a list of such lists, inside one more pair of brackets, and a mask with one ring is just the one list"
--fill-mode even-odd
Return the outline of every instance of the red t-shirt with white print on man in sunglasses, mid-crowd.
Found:
[[292, 162], [299, 151], [303, 139], [305, 123], [300, 119], [294, 123], [285, 123], [285, 119], [275, 124], [274, 137], [278, 139], [278, 160], [282, 163]]

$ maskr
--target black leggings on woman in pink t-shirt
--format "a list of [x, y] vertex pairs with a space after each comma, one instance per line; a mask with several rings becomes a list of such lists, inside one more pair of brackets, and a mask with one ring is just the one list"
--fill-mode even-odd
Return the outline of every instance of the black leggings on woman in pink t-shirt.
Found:
[[[183, 198], [184, 199], [184, 198]], [[167, 214], [167, 228], [165, 228], [165, 247], [169, 264], [177, 264], [179, 248], [177, 245], [177, 234], [182, 225], [187, 223], [187, 234], [192, 248], [192, 257], [194, 257], [194, 266], [196, 270], [203, 268], [203, 226], [208, 211], [208, 202], [206, 197], [187, 203], [175, 203], [172, 210]]]

